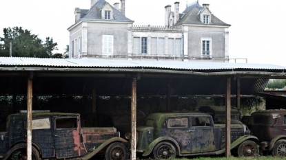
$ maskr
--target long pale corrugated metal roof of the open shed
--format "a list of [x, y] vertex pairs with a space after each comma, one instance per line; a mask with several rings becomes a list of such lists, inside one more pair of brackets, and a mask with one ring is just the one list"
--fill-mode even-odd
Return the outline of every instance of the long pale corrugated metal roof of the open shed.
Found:
[[10, 58], [0, 57], [0, 67], [94, 67], [94, 68], [150, 68], [170, 70], [237, 70], [262, 69], [282, 70], [286, 67], [267, 64], [228, 63], [228, 62], [181, 62], [181, 61], [143, 61], [114, 59], [53, 59], [53, 58]]

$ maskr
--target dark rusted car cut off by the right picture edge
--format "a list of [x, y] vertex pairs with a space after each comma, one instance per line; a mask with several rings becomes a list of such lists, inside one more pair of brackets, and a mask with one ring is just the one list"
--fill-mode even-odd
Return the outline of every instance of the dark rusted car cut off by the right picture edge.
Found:
[[252, 113], [247, 124], [258, 137], [262, 152], [286, 156], [286, 110], [265, 110]]

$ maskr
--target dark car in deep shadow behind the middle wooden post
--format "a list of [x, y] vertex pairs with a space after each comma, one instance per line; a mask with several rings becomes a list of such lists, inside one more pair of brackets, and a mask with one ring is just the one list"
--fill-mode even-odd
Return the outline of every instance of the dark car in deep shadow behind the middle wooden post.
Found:
[[[143, 111], [137, 110], [136, 126], [144, 126], [144, 124], [145, 113], [143, 113]], [[130, 110], [123, 109], [101, 109], [96, 113], [96, 126], [115, 127], [121, 133], [121, 137], [125, 137], [125, 133], [131, 132], [131, 112]]]

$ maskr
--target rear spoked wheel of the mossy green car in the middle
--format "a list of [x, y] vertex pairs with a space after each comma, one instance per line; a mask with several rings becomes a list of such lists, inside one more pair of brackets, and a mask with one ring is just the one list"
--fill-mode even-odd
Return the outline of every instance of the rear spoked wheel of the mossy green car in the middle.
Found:
[[176, 149], [169, 142], [163, 141], [155, 146], [153, 155], [155, 159], [174, 159]]

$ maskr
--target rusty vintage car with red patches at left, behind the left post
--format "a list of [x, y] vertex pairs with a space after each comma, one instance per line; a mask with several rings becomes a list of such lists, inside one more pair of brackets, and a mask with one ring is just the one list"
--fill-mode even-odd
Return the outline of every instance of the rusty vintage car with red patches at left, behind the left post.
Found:
[[[7, 118], [7, 131], [1, 132], [0, 157], [25, 159], [27, 156], [27, 113]], [[127, 141], [113, 127], [82, 128], [78, 113], [32, 113], [32, 159], [128, 158]]]

